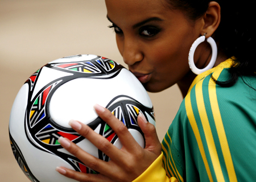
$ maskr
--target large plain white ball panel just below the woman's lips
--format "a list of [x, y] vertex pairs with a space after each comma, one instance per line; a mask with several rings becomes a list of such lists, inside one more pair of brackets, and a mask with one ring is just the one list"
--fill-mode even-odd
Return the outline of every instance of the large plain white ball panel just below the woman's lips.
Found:
[[[123, 81], [125, 78], [125, 82]], [[93, 106], [106, 107], [116, 96], [133, 97], [144, 106], [152, 107], [146, 90], [127, 69], [111, 79], [77, 78], [61, 85], [49, 102], [49, 111], [57, 125], [71, 128], [71, 119], [86, 125], [98, 117]]]

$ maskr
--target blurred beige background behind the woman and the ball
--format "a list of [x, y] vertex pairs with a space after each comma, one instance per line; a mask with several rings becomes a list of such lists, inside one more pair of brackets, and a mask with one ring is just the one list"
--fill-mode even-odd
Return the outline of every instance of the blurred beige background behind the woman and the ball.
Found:
[[[0, 0], [0, 181], [29, 181], [14, 159], [9, 114], [24, 81], [63, 56], [95, 54], [125, 65], [104, 0]], [[176, 85], [150, 93], [162, 140], [182, 100]]]

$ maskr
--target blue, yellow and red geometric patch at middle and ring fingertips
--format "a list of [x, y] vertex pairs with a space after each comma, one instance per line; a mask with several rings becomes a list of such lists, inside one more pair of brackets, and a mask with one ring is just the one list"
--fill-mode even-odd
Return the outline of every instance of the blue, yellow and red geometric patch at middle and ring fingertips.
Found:
[[42, 130], [40, 130], [35, 136], [41, 142], [50, 145], [60, 145], [60, 143], [57, 141], [60, 137], [68, 138], [71, 141], [81, 137], [81, 135], [77, 133], [66, 133], [63, 131], [59, 131], [51, 124], [48, 124]]

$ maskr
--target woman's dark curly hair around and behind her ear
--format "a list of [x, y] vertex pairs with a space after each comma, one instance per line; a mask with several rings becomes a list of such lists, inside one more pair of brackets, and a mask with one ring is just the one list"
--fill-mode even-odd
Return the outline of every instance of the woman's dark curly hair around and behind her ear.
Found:
[[[203, 16], [208, 9], [209, 0], [166, 0], [172, 8], [184, 11], [191, 20]], [[214, 32], [219, 43], [219, 51], [232, 57], [230, 77], [226, 81], [216, 81], [220, 86], [236, 84], [240, 76], [256, 76], [256, 42], [254, 26], [256, 22], [255, 1], [216, 0], [221, 6], [221, 23]]]

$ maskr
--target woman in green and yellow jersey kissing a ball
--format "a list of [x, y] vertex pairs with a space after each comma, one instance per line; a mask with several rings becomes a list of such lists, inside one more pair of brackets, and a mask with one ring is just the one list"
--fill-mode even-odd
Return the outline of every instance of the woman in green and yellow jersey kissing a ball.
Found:
[[71, 121], [73, 129], [112, 160], [103, 162], [60, 138], [64, 148], [100, 174], [56, 170], [79, 181], [254, 181], [254, 1], [105, 2], [130, 71], [149, 92], [177, 83], [184, 100], [162, 146], [154, 126], [139, 115], [145, 148], [110, 111], [94, 106], [123, 148]]

